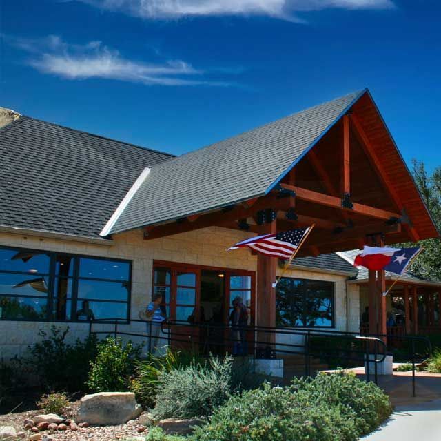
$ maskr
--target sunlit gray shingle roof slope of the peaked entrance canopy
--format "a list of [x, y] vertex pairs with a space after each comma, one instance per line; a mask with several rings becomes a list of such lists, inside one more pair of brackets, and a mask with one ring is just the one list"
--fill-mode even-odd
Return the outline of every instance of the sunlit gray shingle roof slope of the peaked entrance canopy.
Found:
[[110, 233], [263, 196], [363, 92], [155, 165]]

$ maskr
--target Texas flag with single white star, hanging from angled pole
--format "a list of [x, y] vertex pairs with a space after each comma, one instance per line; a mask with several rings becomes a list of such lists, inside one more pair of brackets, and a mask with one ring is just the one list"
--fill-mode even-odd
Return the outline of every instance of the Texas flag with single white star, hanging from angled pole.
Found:
[[373, 271], [385, 269], [396, 274], [402, 274], [411, 259], [415, 257], [420, 248], [390, 248], [390, 247], [367, 247], [358, 254], [353, 265], [365, 267]]

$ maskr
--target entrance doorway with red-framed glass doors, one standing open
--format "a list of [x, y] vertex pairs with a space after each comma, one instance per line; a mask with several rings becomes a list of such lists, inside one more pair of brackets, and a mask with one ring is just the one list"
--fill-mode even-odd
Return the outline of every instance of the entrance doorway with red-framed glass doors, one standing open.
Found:
[[[152, 288], [163, 296], [172, 347], [232, 353], [228, 327], [232, 300], [241, 299], [248, 325], [253, 325], [255, 286], [253, 271], [154, 261]], [[252, 338], [252, 331], [248, 334]], [[252, 346], [247, 345], [247, 351]]]

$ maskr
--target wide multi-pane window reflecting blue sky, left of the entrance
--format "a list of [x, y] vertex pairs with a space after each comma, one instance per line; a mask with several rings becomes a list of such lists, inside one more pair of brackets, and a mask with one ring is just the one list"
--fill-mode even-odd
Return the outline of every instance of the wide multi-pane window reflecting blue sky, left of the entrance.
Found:
[[129, 318], [131, 263], [0, 247], [0, 320]]

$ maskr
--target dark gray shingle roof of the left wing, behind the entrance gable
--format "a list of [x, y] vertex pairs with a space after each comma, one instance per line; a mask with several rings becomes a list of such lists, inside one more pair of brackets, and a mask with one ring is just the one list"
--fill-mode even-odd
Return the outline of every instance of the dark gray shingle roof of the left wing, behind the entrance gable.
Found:
[[0, 129], [0, 225], [98, 237], [144, 167], [171, 157], [21, 116]]

